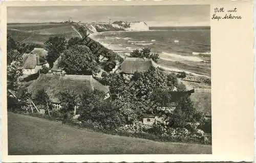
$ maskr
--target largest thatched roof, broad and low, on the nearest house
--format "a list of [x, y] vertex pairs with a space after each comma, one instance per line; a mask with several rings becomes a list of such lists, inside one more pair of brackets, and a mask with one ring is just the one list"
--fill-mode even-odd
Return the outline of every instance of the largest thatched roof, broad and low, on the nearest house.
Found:
[[61, 90], [73, 90], [78, 95], [88, 88], [89, 90], [109, 91], [108, 86], [104, 86], [94, 79], [91, 75], [52, 75], [40, 74], [40, 76], [28, 86], [28, 91], [32, 92], [32, 97], [35, 96], [37, 90], [44, 88], [50, 99], [54, 102], [58, 101], [58, 93]]

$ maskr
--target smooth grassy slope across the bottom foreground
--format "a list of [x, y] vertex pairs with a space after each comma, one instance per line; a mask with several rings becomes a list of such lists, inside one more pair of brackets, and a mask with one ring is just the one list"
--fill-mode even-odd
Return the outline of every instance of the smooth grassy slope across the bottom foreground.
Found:
[[210, 154], [211, 146], [160, 143], [80, 130], [8, 112], [8, 154]]

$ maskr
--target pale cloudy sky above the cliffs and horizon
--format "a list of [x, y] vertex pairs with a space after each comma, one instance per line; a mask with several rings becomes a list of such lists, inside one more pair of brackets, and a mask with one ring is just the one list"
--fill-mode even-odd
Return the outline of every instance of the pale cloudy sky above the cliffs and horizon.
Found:
[[7, 22], [145, 21], [148, 26], [210, 26], [209, 5], [8, 7]]

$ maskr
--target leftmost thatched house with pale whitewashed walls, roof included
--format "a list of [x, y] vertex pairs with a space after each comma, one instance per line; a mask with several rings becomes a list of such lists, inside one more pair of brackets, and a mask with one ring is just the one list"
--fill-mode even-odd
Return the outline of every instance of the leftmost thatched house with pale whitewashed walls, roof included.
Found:
[[46, 66], [49, 66], [47, 61], [36, 55], [36, 54], [23, 54], [23, 74], [24, 75], [32, 75], [36, 74], [39, 69], [42, 68], [42, 65], [46, 64]]

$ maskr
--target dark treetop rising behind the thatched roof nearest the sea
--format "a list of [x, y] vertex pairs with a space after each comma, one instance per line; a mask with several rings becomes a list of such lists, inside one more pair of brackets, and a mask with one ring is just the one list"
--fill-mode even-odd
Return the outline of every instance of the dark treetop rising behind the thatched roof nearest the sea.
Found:
[[159, 54], [153, 53], [151, 54], [151, 49], [150, 48], [142, 48], [141, 50], [134, 50], [131, 52], [130, 57], [135, 57], [135, 58], [152, 58], [154, 62], [157, 62], [159, 59]]

